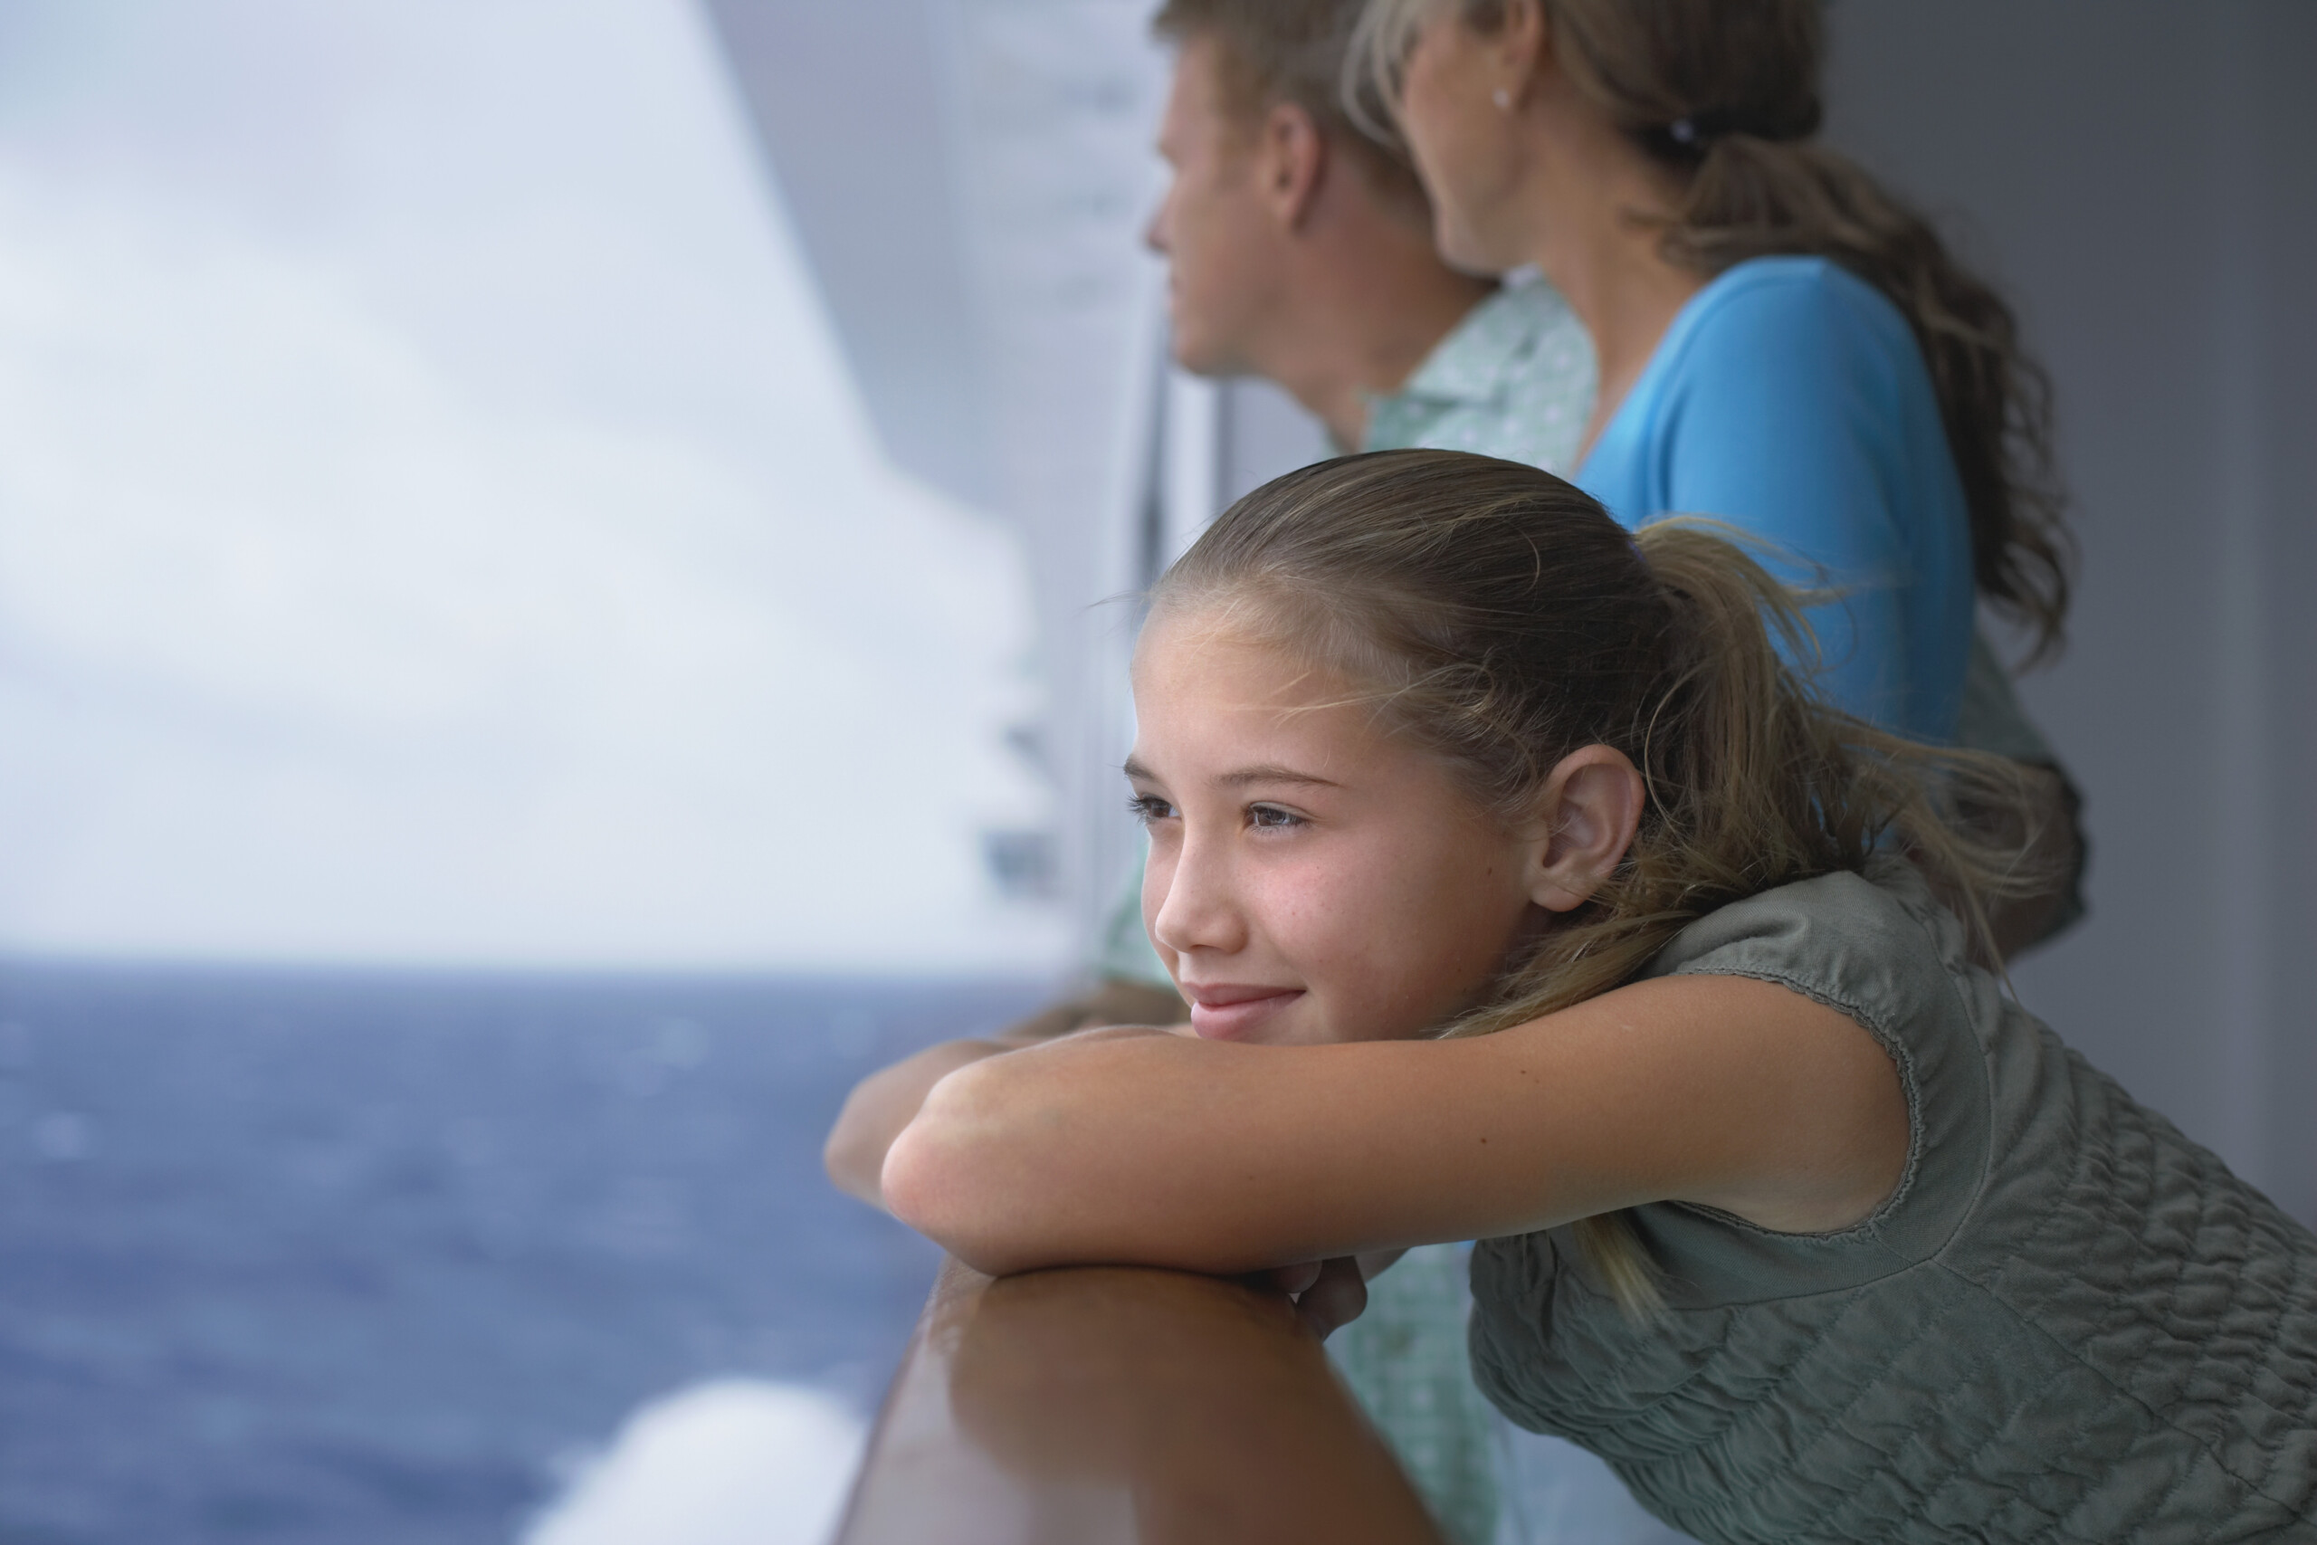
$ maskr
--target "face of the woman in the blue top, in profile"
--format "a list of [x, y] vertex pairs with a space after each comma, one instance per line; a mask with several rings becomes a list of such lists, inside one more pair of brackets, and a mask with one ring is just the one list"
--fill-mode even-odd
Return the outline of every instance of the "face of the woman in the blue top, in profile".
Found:
[[1399, 130], [1432, 195], [1441, 257], [1474, 273], [1504, 273], [1532, 257], [1508, 218], [1520, 206], [1520, 146], [1513, 114], [1494, 102], [1501, 60], [1460, 9], [1434, 5], [1416, 35], [1399, 86]]

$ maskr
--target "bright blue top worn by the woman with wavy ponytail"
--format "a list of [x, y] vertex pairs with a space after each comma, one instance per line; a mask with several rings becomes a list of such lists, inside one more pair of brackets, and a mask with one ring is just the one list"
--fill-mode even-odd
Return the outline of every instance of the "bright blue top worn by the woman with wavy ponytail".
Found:
[[1823, 257], [1742, 262], [1682, 306], [1576, 477], [1627, 526], [1705, 514], [1835, 586], [1810, 609], [1835, 704], [1951, 741], [1972, 651], [1972, 523], [1923, 352]]

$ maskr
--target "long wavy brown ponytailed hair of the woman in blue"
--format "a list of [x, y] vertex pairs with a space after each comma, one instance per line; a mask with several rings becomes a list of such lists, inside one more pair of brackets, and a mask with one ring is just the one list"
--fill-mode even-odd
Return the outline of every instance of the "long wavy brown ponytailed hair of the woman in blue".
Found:
[[[1664, 222], [1671, 262], [1715, 276], [1749, 257], [1828, 257], [1900, 308], [1962, 475], [1979, 593], [2027, 628], [2032, 660], [2053, 653], [2074, 542], [2053, 461], [2051, 380], [2020, 347], [2004, 299], [1956, 262], [1937, 229], [1814, 139], [1823, 0], [1532, 2], [1562, 69], [1682, 176]], [[1506, 0], [1367, 0], [1344, 81], [1362, 125], [1390, 132], [1399, 69], [1443, 5], [1483, 32], [1504, 23]]]

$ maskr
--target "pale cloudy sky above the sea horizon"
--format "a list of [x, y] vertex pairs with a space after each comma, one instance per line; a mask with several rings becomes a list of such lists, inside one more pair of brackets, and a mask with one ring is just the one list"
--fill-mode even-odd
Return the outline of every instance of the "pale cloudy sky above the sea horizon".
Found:
[[0, 9], [0, 950], [1043, 968], [1029, 649], [681, 0]]

